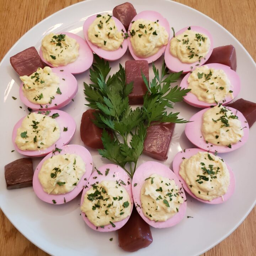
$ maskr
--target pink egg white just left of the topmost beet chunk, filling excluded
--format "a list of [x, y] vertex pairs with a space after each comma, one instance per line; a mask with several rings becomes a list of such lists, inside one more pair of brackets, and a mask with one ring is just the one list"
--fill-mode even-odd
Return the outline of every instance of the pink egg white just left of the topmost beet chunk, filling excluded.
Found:
[[[88, 39], [88, 29], [91, 25], [91, 23], [97, 18], [97, 15], [92, 15], [90, 17], [88, 17], [84, 23], [83, 26], [83, 31], [84, 31], [84, 37], [86, 42], [88, 43], [89, 47], [91, 48], [91, 50], [96, 53], [98, 56], [100, 56], [101, 58], [105, 59], [105, 60], [117, 60], [120, 59], [127, 50], [128, 47], [128, 43], [127, 43], [127, 39], [124, 39], [123, 43], [122, 43], [122, 47], [119, 47], [117, 50], [113, 50], [113, 51], [108, 51], [108, 50], [103, 50], [100, 47], [96, 46], [95, 44], [91, 43]], [[124, 28], [123, 24], [115, 17], [111, 17], [114, 22], [116, 23], [117, 26], [117, 30], [121, 31], [124, 35], [124, 33], [126, 33], [126, 29]]]

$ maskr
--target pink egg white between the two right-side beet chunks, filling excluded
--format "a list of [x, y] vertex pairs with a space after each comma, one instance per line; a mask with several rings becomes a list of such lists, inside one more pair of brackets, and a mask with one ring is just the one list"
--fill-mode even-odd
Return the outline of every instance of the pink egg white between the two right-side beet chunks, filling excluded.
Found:
[[[239, 75], [234, 70], [230, 69], [229, 66], [226, 66], [223, 64], [212, 63], [212, 64], [206, 64], [206, 66], [209, 69], [210, 68], [222, 69], [225, 72], [225, 74], [227, 75], [227, 77], [230, 81], [230, 85], [231, 85], [230, 90], [233, 91], [233, 98], [231, 98], [230, 96], [226, 96], [226, 98], [224, 99], [224, 102], [221, 102], [221, 103], [222, 103], [222, 105], [228, 104], [236, 96], [238, 96], [238, 94], [240, 92], [241, 82], [240, 82]], [[180, 84], [181, 88], [188, 89], [188, 81], [187, 80], [188, 80], [189, 76], [190, 76], [190, 73], [188, 73], [187, 75], [184, 76], [184, 78], [182, 79], [181, 84]], [[206, 107], [217, 105], [216, 103], [207, 103], [204, 101], [199, 101], [197, 96], [192, 94], [192, 92], [188, 92], [187, 95], [183, 98], [183, 100], [185, 102], [187, 102], [189, 105], [198, 107], [198, 108], [206, 108]]]

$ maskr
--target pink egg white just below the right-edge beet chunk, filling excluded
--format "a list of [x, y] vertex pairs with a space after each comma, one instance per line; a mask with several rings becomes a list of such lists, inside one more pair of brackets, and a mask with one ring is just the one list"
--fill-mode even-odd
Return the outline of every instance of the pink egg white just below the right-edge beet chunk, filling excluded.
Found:
[[213, 145], [211, 143], [206, 142], [206, 140], [204, 139], [203, 134], [201, 132], [201, 126], [202, 126], [203, 114], [204, 114], [204, 112], [209, 110], [209, 108], [205, 108], [205, 109], [197, 112], [190, 118], [190, 120], [189, 120], [190, 123], [187, 123], [185, 126], [185, 134], [186, 134], [187, 138], [198, 148], [201, 148], [201, 149], [213, 152], [213, 153], [215, 151], [217, 151], [218, 153], [226, 153], [226, 152], [230, 152], [230, 151], [240, 148], [242, 145], [244, 145], [246, 143], [247, 139], [249, 138], [249, 126], [248, 126], [248, 123], [247, 123], [245, 117], [243, 116], [243, 114], [241, 112], [239, 112], [235, 108], [231, 108], [231, 107], [227, 107], [227, 109], [230, 110], [231, 112], [233, 112], [236, 116], [238, 116], [238, 119], [241, 122], [242, 128], [244, 127], [244, 129], [243, 129], [244, 136], [241, 138], [241, 140], [238, 143], [232, 144], [231, 148], [229, 148], [228, 146]]

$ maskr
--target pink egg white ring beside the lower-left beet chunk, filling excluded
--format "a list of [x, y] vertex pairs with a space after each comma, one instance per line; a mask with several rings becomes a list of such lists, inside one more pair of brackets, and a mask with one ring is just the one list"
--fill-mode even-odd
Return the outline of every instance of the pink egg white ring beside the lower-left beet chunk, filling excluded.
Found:
[[[85, 174], [81, 177], [80, 181], [77, 182], [75, 188], [65, 194], [48, 194], [44, 192], [43, 187], [38, 179], [38, 173], [42, 168], [44, 161], [51, 158], [54, 155], [65, 155], [65, 154], [76, 154], [79, 155], [83, 162], [85, 163]], [[59, 148], [58, 151], [55, 153], [48, 154], [37, 166], [36, 170], [34, 171], [33, 176], [33, 190], [44, 202], [51, 203], [51, 204], [63, 204], [71, 201], [74, 199], [78, 194], [82, 191], [85, 187], [90, 175], [92, 172], [92, 156], [90, 152], [84, 147], [80, 145], [65, 145]]]

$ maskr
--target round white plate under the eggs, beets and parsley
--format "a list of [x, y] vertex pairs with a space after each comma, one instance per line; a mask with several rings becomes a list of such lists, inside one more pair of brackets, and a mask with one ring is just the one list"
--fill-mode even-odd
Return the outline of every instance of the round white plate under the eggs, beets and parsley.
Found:
[[[131, 1], [137, 12], [143, 10], [159, 11], [166, 17], [170, 26], [175, 31], [185, 26], [204, 26], [214, 38], [214, 46], [233, 44], [236, 48], [238, 69], [241, 78], [242, 89], [238, 98], [255, 101], [256, 65], [244, 47], [223, 27], [185, 5], [172, 1], [155, 0]], [[54, 15], [49, 16], [30, 31], [28, 31], [6, 54], [0, 64], [1, 77], [1, 178], [0, 178], [0, 206], [9, 220], [16, 228], [38, 247], [52, 255], [127, 255], [118, 247], [117, 233], [100, 233], [91, 230], [80, 216], [77, 197], [65, 205], [51, 205], [38, 199], [32, 187], [19, 190], [6, 190], [4, 179], [4, 165], [15, 159], [21, 158], [11, 143], [11, 132], [18, 119], [28, 113], [18, 97], [18, 75], [12, 69], [9, 58], [30, 46], [39, 49], [43, 36], [51, 31], [68, 31], [82, 34], [82, 25], [87, 16], [99, 12], [110, 11], [120, 1], [85, 1], [65, 8]], [[181, 18], [182, 17], [182, 18]], [[124, 55], [119, 61], [111, 63], [112, 70], [117, 70], [117, 65], [130, 58]], [[156, 62], [160, 66], [162, 60]], [[151, 65], [150, 65], [151, 67]], [[151, 71], [151, 70], [150, 70]], [[82, 112], [86, 110], [83, 94], [83, 81], [89, 82], [89, 72], [76, 75], [79, 82], [78, 95], [74, 102], [62, 108], [71, 114], [77, 124], [75, 137], [71, 144], [82, 145], [80, 139], [80, 119]], [[152, 78], [152, 72], [151, 72]], [[13, 100], [11, 96], [17, 97]], [[19, 108], [22, 106], [22, 109]], [[189, 119], [199, 109], [191, 107], [184, 102], [175, 105], [175, 111], [181, 112], [180, 117]], [[184, 134], [184, 124], [177, 124], [172, 138], [168, 160], [164, 162], [169, 166], [174, 155], [184, 148], [191, 148]], [[244, 220], [255, 204], [256, 172], [255, 172], [255, 142], [256, 124], [250, 129], [250, 139], [240, 149], [222, 154], [222, 157], [233, 168], [236, 177], [236, 190], [234, 195], [226, 203], [209, 205], [198, 202], [188, 196], [187, 214], [194, 218], [184, 218], [178, 225], [167, 229], [151, 228], [153, 243], [133, 255], [172, 255], [187, 256], [199, 255], [219, 243], [228, 236]], [[108, 162], [102, 160], [96, 150], [90, 150], [94, 159], [94, 165], [99, 167]], [[139, 164], [149, 157], [142, 156]], [[34, 169], [39, 159], [34, 161]], [[113, 237], [111, 242], [109, 239]]]

